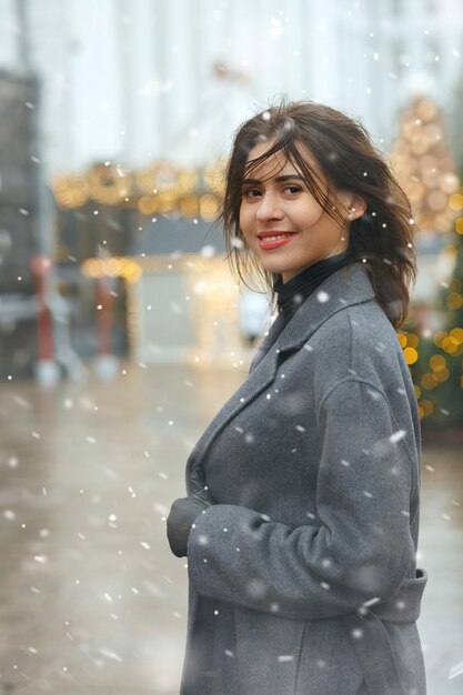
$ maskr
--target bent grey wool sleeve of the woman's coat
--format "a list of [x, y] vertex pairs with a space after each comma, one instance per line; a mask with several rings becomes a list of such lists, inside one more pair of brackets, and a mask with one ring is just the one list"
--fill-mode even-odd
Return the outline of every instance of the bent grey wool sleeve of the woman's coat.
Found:
[[[289, 618], [342, 615], [391, 596], [414, 558], [411, 432], [382, 391], [341, 382], [320, 404], [319, 525], [233, 505], [195, 520], [189, 576], [204, 596]], [[245, 481], [243, 482], [245, 484]]]

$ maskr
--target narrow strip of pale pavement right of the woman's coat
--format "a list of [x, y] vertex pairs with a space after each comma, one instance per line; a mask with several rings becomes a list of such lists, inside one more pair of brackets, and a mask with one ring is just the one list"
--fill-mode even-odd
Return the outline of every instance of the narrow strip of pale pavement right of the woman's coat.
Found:
[[463, 693], [462, 492], [462, 449], [426, 447], [419, 563], [426, 568], [429, 583], [419, 627], [429, 695]]

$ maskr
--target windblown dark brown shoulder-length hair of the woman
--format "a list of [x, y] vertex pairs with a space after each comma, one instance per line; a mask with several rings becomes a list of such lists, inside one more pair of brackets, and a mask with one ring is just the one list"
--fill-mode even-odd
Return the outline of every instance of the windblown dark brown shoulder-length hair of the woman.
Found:
[[[273, 144], [248, 162], [249, 152], [263, 140]], [[330, 204], [304, 149], [326, 177], [329, 189], [351, 191], [366, 202], [364, 214], [350, 223], [352, 263], [363, 261], [376, 301], [394, 328], [406, 318], [409, 285], [415, 279], [413, 219], [410, 202], [364, 127], [330, 107], [300, 101], [273, 105], [245, 121], [236, 131], [227, 169], [225, 194], [220, 219], [229, 260], [244, 282], [260, 278], [273, 290], [275, 276], [265, 271], [245, 245], [240, 229], [242, 182], [268, 158], [283, 151], [296, 167], [320, 205], [343, 222]]]

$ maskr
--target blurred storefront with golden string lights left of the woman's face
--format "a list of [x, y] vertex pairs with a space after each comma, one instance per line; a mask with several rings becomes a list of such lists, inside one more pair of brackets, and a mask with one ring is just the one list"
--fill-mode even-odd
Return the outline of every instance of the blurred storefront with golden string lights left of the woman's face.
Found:
[[246, 359], [242, 290], [214, 224], [223, 167], [125, 172], [108, 162], [53, 180], [57, 274], [82, 359], [99, 350], [145, 364]]

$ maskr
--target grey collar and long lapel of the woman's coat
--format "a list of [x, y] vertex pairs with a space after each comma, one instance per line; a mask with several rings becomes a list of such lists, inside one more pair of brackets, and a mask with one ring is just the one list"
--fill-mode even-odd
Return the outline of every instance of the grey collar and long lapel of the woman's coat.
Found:
[[368, 302], [373, 298], [374, 291], [366, 270], [360, 263], [354, 263], [341, 268], [322, 282], [301, 304], [283, 330], [281, 330], [283, 320], [280, 316], [276, 319], [261, 343], [248, 379], [212, 420], [191, 452], [187, 464], [188, 490], [192, 466], [201, 464], [215, 436], [250, 401], [273, 383], [282, 353], [302, 348], [330, 316], [342, 309]]

